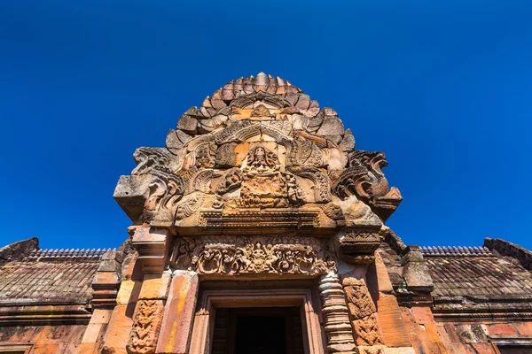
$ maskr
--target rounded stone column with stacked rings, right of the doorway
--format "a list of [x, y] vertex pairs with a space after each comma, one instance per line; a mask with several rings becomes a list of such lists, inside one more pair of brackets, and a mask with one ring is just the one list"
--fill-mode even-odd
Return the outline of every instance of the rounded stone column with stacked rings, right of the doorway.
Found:
[[355, 341], [349, 325], [348, 307], [336, 273], [320, 277], [319, 295], [323, 301], [327, 350], [332, 353], [354, 353]]

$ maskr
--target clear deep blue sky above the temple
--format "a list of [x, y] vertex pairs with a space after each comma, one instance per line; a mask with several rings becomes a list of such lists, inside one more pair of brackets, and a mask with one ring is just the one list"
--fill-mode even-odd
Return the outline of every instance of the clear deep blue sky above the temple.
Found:
[[278, 75], [386, 152], [408, 244], [532, 248], [530, 1], [2, 1], [0, 243], [117, 247], [139, 146]]

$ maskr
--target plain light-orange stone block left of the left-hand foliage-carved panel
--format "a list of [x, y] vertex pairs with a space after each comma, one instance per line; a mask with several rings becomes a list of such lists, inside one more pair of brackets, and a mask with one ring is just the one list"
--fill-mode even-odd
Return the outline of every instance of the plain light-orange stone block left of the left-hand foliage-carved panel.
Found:
[[118, 304], [113, 309], [113, 315], [104, 336], [103, 354], [126, 354], [126, 344], [133, 326], [133, 309], [135, 304]]

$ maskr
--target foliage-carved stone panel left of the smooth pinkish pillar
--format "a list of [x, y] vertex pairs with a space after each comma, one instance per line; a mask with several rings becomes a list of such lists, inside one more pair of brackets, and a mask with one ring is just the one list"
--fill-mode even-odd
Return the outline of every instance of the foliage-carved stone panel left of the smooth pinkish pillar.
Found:
[[162, 300], [139, 300], [126, 350], [129, 354], [154, 354], [160, 331]]

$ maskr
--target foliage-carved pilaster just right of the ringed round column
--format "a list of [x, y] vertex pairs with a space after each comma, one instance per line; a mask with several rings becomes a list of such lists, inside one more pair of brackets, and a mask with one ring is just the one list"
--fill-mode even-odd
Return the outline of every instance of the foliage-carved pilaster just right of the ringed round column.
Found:
[[[377, 310], [364, 280], [345, 278], [342, 284], [359, 352], [380, 353], [384, 347], [379, 334]], [[372, 347], [372, 350], [368, 351], [365, 347]]]

